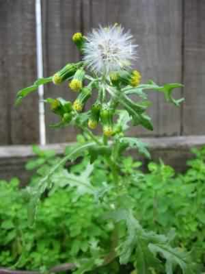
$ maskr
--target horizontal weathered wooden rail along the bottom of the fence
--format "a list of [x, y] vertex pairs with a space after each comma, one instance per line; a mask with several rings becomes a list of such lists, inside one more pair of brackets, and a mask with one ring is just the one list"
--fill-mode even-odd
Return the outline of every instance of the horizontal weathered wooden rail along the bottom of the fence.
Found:
[[[205, 136], [178, 136], [167, 138], [141, 138], [143, 142], [148, 143], [152, 160], [158, 162], [161, 158], [165, 164], [170, 164], [176, 171], [185, 171], [186, 160], [193, 158], [190, 153], [191, 147], [200, 148], [205, 145]], [[69, 143], [50, 144], [41, 147], [41, 149], [53, 149], [57, 155], [62, 155], [64, 149]], [[136, 158], [136, 150], [129, 152]], [[31, 173], [25, 171], [25, 163], [34, 157], [32, 147], [25, 146], [2, 146], [0, 147], [0, 179], [11, 179], [19, 177], [21, 182], [27, 183]], [[148, 160], [141, 158], [144, 166]]]

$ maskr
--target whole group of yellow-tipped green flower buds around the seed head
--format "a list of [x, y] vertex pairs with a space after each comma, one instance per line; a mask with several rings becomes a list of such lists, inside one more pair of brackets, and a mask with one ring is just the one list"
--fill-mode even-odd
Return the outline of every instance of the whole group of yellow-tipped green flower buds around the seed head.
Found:
[[[86, 39], [87, 38], [80, 32], [77, 32], [72, 36], [72, 41], [81, 53], [83, 53]], [[67, 81], [68, 88], [77, 92], [77, 98], [73, 103], [61, 98], [47, 99], [50, 100], [51, 110], [61, 117], [62, 123], [70, 123], [74, 116], [80, 115], [81, 112], [83, 112], [85, 103], [90, 99], [92, 92], [96, 88], [98, 91], [98, 98], [90, 110], [87, 111], [87, 126], [90, 127], [90, 129], [95, 129], [98, 123], [100, 123], [102, 125], [102, 132], [105, 136], [109, 137], [120, 134], [122, 128], [119, 126], [117, 128], [113, 125], [115, 103], [112, 99], [109, 101], [105, 98], [102, 99], [102, 94], [100, 95], [100, 80], [96, 82], [96, 79], [98, 79], [98, 76], [96, 75], [94, 77], [87, 77], [85, 73], [86, 66], [87, 64], [85, 62], [78, 62], [76, 64], [70, 63], [53, 75], [54, 84], [59, 85], [64, 81]], [[87, 79], [89, 79], [89, 81]], [[85, 83], [85, 80], [90, 83]], [[109, 75], [106, 75], [104, 80], [107, 81], [110, 86], [114, 86], [118, 89], [124, 86], [136, 87], [141, 81], [141, 75], [139, 71], [136, 70], [121, 69], [118, 71], [111, 71]]]

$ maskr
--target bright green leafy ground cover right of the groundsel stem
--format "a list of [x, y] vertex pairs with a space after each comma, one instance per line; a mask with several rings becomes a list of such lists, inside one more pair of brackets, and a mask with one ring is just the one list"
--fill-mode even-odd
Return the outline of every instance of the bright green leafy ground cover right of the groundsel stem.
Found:
[[[139, 172], [138, 179], [133, 177], [129, 190], [143, 227], [160, 234], [174, 229], [174, 243], [192, 250], [193, 260], [204, 264], [205, 153], [204, 148], [192, 151], [197, 157], [187, 162], [189, 169], [184, 175], [175, 174], [163, 162], [151, 162], [150, 172], [146, 175]], [[143, 208], [139, 208], [139, 203]]]

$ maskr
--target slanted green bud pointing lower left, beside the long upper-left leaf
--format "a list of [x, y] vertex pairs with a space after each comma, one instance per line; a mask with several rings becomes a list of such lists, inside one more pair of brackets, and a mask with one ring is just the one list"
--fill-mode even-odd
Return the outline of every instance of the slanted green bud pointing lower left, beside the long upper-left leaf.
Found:
[[74, 75], [74, 73], [77, 71], [77, 67], [78, 65], [74, 63], [66, 64], [63, 69], [57, 71], [57, 73], [53, 75], [53, 84], [59, 85]]

